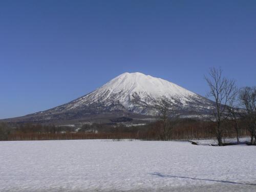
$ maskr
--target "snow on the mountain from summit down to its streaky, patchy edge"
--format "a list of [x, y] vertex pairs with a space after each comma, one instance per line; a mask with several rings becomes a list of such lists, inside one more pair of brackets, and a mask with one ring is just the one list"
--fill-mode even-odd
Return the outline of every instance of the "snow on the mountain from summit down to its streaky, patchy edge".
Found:
[[140, 113], [141, 109], [138, 111], [134, 106], [133, 95], [139, 96], [141, 100], [147, 103], [166, 97], [179, 99], [183, 106], [195, 104], [195, 102], [197, 104], [202, 103], [202, 101], [209, 105], [208, 100], [204, 97], [190, 92], [177, 84], [137, 72], [123, 73], [94, 92], [53, 110], [56, 112], [70, 111], [93, 105], [94, 108], [95, 106], [96, 108], [111, 108], [111, 111], [129, 110]]

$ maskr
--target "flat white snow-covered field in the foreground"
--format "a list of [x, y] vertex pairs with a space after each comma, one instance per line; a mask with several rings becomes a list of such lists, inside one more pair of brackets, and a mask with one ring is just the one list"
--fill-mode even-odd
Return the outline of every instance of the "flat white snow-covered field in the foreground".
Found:
[[0, 191], [256, 191], [256, 147], [2, 141]]

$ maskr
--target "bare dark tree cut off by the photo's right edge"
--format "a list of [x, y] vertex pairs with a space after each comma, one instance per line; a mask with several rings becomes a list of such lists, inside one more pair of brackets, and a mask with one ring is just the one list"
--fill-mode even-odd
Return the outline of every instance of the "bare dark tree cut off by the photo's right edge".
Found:
[[251, 133], [251, 144], [255, 144], [256, 134], [256, 87], [245, 87], [240, 91], [239, 99], [245, 107], [245, 119]]

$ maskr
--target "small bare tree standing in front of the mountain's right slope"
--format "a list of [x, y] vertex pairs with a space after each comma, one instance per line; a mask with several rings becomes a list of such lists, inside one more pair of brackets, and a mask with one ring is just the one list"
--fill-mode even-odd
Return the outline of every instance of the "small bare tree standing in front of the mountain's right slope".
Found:
[[148, 104], [147, 102], [142, 101], [138, 95], [133, 95], [133, 97], [133, 101], [136, 105], [156, 111], [163, 124], [163, 134], [160, 134], [160, 137], [165, 141], [170, 140], [174, 127], [174, 124], [171, 123], [170, 120], [178, 116], [177, 112], [178, 109], [180, 109], [181, 102], [175, 98], [160, 97], [153, 99], [153, 102]]

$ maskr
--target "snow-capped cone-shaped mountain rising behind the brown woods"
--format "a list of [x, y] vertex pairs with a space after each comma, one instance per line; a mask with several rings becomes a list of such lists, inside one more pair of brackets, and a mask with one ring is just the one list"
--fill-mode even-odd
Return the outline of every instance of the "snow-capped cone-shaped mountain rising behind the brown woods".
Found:
[[153, 103], [159, 98], [177, 99], [184, 115], [206, 114], [212, 102], [177, 84], [142, 73], [123, 73], [97, 90], [56, 108], [24, 116], [29, 121], [80, 119], [103, 114], [153, 115], [153, 109], [141, 108], [134, 102], [139, 98]]

